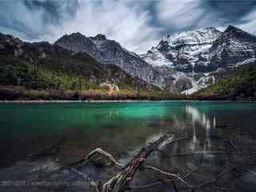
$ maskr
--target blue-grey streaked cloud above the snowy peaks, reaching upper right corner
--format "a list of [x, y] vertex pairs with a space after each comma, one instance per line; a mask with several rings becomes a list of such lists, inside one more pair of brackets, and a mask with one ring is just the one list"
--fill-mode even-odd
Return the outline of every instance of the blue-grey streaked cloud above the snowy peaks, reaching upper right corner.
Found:
[[165, 32], [240, 25], [253, 22], [254, 17], [245, 18], [255, 7], [256, 1], [162, 0], [158, 3], [158, 20], [160, 25], [166, 26]]

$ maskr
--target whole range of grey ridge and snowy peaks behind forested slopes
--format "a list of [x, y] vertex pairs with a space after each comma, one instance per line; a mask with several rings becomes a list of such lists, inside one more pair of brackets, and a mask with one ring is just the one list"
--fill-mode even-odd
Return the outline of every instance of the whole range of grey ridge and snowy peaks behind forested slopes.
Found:
[[214, 83], [213, 71], [227, 70], [256, 58], [256, 37], [234, 26], [224, 32], [207, 27], [168, 34], [141, 55], [103, 34], [90, 38], [79, 33], [65, 35], [55, 44], [90, 54], [98, 62], [118, 66], [154, 86], [182, 93], [193, 93]]

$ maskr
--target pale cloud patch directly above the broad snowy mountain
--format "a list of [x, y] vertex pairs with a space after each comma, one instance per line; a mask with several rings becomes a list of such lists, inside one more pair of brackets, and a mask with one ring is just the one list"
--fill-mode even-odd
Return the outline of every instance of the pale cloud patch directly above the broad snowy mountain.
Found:
[[206, 10], [201, 0], [162, 0], [157, 8], [162, 25], [171, 26], [173, 30], [194, 30], [223, 22], [220, 13]]

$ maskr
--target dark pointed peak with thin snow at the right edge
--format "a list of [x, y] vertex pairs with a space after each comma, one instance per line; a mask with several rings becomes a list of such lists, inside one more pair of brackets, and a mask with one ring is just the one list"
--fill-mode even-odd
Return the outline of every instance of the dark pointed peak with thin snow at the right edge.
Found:
[[249, 58], [256, 58], [256, 36], [229, 26], [210, 48], [210, 63], [229, 68]]

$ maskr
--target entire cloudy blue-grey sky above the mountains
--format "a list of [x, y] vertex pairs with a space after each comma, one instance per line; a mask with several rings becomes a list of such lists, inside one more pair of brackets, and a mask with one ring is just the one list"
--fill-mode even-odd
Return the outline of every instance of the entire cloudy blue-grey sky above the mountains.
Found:
[[0, 0], [0, 32], [30, 42], [106, 34], [143, 53], [168, 33], [229, 25], [256, 34], [256, 0]]

